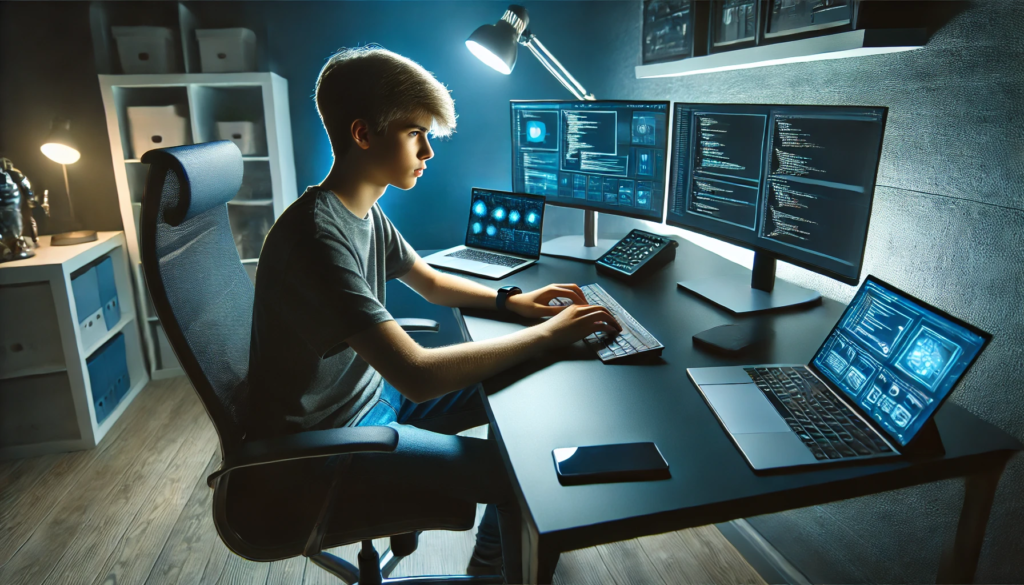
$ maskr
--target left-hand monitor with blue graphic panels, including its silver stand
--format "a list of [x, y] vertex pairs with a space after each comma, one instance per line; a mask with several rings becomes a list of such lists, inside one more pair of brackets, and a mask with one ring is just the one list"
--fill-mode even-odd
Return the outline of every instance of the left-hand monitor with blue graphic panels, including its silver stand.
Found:
[[596, 213], [662, 222], [668, 101], [517, 101], [512, 109], [512, 191], [587, 211], [584, 236], [545, 242], [542, 254], [594, 261]]

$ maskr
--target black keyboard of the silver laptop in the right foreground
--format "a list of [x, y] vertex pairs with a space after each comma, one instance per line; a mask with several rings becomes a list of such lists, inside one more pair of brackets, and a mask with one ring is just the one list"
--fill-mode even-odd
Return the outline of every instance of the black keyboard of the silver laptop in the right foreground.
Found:
[[804, 367], [743, 368], [815, 459], [892, 451], [876, 431]]

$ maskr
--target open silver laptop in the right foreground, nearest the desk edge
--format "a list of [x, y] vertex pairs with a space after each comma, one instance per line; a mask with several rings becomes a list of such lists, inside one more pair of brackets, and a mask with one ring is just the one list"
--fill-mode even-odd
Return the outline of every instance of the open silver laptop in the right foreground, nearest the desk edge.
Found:
[[893, 457], [990, 338], [867, 277], [807, 366], [686, 372], [754, 469]]

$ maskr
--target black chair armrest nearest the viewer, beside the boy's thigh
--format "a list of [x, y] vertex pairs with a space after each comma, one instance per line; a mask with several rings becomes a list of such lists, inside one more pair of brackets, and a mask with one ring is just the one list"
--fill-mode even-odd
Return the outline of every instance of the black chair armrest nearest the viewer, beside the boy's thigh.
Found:
[[218, 477], [240, 467], [294, 459], [330, 457], [346, 453], [389, 453], [398, 447], [398, 431], [387, 426], [349, 426], [307, 430], [273, 438], [243, 443], [230, 461], [207, 477], [211, 488]]

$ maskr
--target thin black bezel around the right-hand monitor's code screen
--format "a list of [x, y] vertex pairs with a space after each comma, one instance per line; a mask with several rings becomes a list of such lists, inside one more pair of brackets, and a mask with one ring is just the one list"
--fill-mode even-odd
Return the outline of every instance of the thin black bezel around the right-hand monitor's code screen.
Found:
[[692, 225], [685, 225], [681, 221], [673, 220], [672, 216], [669, 215], [669, 200], [670, 200], [670, 195], [669, 194], [675, 193], [675, 190], [676, 190], [676, 177], [678, 176], [679, 173], [676, 172], [676, 165], [678, 164], [678, 160], [675, 157], [676, 150], [675, 149], [671, 149], [671, 147], [670, 147], [670, 149], [672, 151], [672, 154], [673, 154], [673, 157], [672, 157], [672, 163], [670, 165], [668, 165], [669, 166], [669, 172], [671, 173], [671, 176], [669, 177], [669, 181], [667, 182], [667, 184], [669, 185], [669, 194], [666, 194], [666, 198], [665, 198], [666, 205], [665, 205], [665, 214], [664, 215], [665, 215], [665, 224], [666, 225], [670, 225], [672, 227], [678, 227], [680, 229], [686, 229], [686, 231], [689, 231], [689, 232], [695, 232], [697, 234], [700, 234], [701, 236], [708, 236], [709, 238], [714, 238], [715, 240], [721, 240], [721, 241], [726, 242], [728, 244], [732, 244], [734, 246], [739, 246], [740, 248], [743, 248], [743, 249], [746, 249], [746, 250], [752, 250], [752, 251], [754, 251], [754, 252], [756, 252], [758, 254], [767, 254], [767, 255], [769, 255], [769, 256], [771, 256], [771, 257], [773, 257], [775, 259], [782, 260], [783, 262], [787, 262], [790, 264], [794, 264], [796, 266], [800, 266], [801, 268], [805, 268], [805, 269], [811, 270], [812, 273], [816, 273], [816, 274], [828, 277], [828, 278], [830, 278], [833, 280], [839, 281], [839, 282], [844, 283], [844, 284], [857, 285], [857, 284], [860, 283], [860, 275], [861, 275], [861, 273], [864, 269], [864, 255], [867, 253], [867, 238], [870, 236], [870, 233], [871, 233], [871, 213], [874, 210], [874, 191], [876, 191], [876, 187], [878, 186], [878, 182], [879, 182], [879, 168], [882, 166], [882, 153], [884, 151], [885, 141], [886, 141], [885, 128], [886, 128], [886, 124], [888, 123], [888, 120], [889, 120], [889, 107], [888, 106], [828, 106], [828, 105], [813, 105], [813, 103], [703, 103], [703, 102], [696, 102], [696, 101], [673, 101], [672, 102], [672, 126], [673, 126], [673, 129], [675, 129], [675, 126], [676, 126], [676, 124], [675, 124], [675, 122], [676, 122], [676, 106], [687, 106], [687, 107], [688, 106], [708, 106], [708, 107], [716, 107], [716, 106], [729, 106], [729, 107], [732, 107], [732, 106], [737, 106], [737, 107], [758, 107], [758, 108], [819, 108], [819, 109], [833, 109], [833, 110], [847, 110], [847, 109], [849, 109], [849, 110], [864, 110], [864, 109], [878, 109], [878, 110], [882, 110], [882, 140], [879, 142], [879, 155], [878, 155], [879, 156], [879, 163], [874, 165], [874, 176], [871, 179], [871, 200], [867, 204], [867, 224], [864, 226], [864, 245], [861, 246], [861, 248], [860, 248], [860, 259], [857, 262], [857, 276], [856, 277], [852, 277], [852, 278], [851, 277], [847, 277], [846, 275], [841, 275], [841, 274], [839, 274], [839, 273], [837, 273], [835, 270], [830, 270], [830, 269], [825, 268], [823, 266], [814, 264], [813, 262], [809, 262], [809, 261], [805, 261], [805, 260], [798, 260], [797, 258], [794, 258], [793, 256], [791, 256], [788, 254], [784, 254], [782, 252], [776, 252], [774, 250], [769, 250], [769, 249], [764, 248], [762, 246], [758, 246], [757, 244], [752, 244], [750, 242], [743, 242], [741, 240], [738, 240], [736, 238], [732, 238], [730, 236], [724, 236], [722, 234], [717, 234], [713, 229], [707, 229], [707, 228], [703, 228], [703, 227], [695, 227], [695, 226], [692, 226]]

